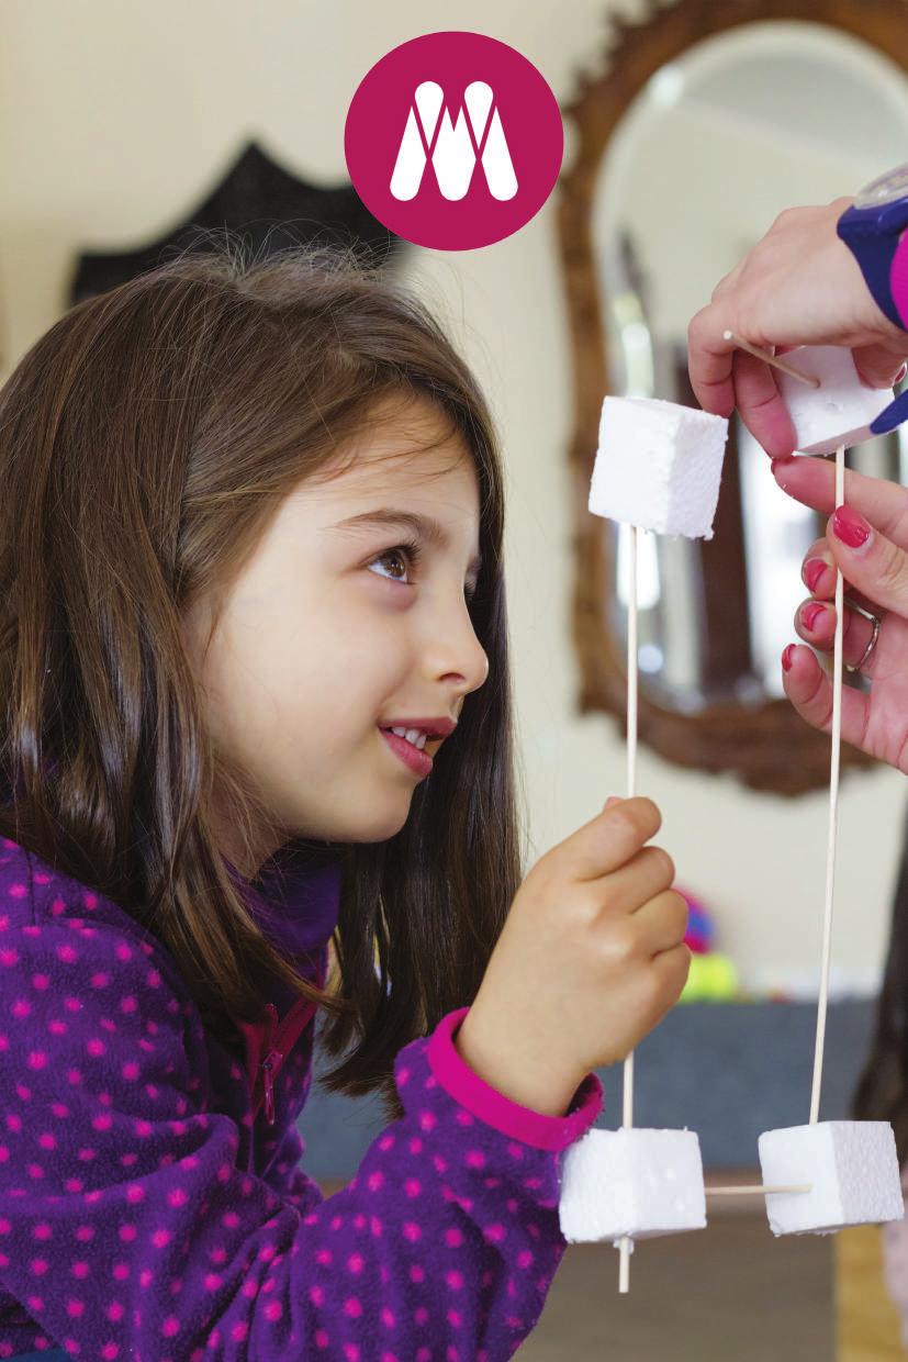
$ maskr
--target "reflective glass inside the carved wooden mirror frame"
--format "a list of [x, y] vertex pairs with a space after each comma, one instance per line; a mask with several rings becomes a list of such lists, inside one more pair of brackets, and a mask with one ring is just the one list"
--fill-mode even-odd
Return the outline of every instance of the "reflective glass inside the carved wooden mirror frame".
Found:
[[[594, 191], [603, 390], [696, 406], [687, 324], [717, 281], [783, 208], [856, 193], [907, 147], [908, 80], [821, 25], [746, 25], [662, 67], [610, 139]], [[905, 428], [847, 459], [908, 481]], [[623, 640], [629, 531], [602, 524], [609, 627]], [[652, 701], [697, 712], [783, 695], [779, 658], [806, 597], [800, 561], [822, 524], [776, 486], [735, 415], [713, 539], [640, 535], [640, 685]]]

